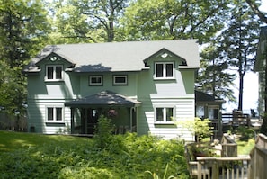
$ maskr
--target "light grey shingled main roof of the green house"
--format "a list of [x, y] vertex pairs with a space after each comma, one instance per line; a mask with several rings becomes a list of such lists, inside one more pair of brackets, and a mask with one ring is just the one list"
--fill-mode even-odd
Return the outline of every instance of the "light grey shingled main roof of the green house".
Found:
[[186, 60], [188, 68], [200, 67], [197, 40], [154, 40], [49, 45], [32, 59], [28, 70], [53, 52], [76, 64], [75, 72], [140, 71], [146, 68], [144, 60], [161, 49]]

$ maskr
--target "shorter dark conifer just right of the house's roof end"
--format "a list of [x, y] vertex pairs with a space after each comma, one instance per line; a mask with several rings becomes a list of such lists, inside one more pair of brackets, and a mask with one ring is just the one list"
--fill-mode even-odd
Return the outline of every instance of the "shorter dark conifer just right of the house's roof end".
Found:
[[236, 102], [233, 86], [235, 74], [229, 73], [226, 59], [219, 56], [216, 41], [202, 49], [200, 70], [196, 79], [196, 88], [218, 99]]

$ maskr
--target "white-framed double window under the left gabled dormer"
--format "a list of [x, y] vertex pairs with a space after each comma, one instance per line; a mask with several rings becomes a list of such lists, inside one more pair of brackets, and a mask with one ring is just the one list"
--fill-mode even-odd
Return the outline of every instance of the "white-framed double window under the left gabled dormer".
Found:
[[46, 66], [46, 80], [47, 81], [63, 80], [63, 66], [62, 65]]

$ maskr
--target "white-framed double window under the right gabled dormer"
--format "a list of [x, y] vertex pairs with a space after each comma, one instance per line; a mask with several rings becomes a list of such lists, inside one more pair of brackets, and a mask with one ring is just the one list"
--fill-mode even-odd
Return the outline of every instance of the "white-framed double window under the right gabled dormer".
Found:
[[174, 78], [174, 62], [156, 62], [155, 78], [156, 79]]

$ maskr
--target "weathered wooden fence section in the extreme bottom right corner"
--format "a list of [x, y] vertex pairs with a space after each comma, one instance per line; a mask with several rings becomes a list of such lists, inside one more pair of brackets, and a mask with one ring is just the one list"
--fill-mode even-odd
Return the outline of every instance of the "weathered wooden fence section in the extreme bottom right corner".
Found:
[[267, 177], [267, 137], [259, 134], [255, 146], [250, 153], [251, 179], [266, 179]]

